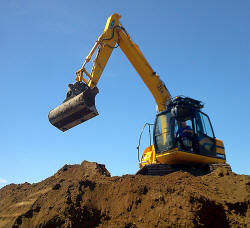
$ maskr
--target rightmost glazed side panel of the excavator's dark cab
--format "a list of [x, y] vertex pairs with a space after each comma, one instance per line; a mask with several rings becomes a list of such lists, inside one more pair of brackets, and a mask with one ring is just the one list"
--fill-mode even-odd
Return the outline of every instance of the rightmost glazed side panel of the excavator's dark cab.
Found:
[[197, 111], [194, 118], [198, 151], [202, 155], [216, 156], [216, 140], [208, 115]]

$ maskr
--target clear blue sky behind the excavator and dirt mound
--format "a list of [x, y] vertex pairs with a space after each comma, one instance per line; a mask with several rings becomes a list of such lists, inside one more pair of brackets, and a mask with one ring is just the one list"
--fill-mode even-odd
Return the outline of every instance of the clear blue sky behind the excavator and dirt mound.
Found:
[[98, 117], [65, 133], [48, 121], [114, 12], [172, 96], [205, 103], [228, 163], [249, 175], [250, 1], [2, 0], [0, 187], [83, 160], [112, 175], [137, 171], [139, 134], [156, 105], [121, 50], [99, 82]]

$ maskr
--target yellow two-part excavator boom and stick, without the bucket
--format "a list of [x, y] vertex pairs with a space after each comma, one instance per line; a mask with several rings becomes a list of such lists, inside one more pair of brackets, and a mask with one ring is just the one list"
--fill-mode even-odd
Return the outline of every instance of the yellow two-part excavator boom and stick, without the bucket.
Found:
[[[159, 76], [151, 68], [141, 53], [139, 47], [131, 40], [126, 30], [121, 26], [119, 18], [120, 16], [118, 14], [113, 14], [109, 17], [104, 32], [96, 41], [82, 68], [77, 71], [76, 80], [83, 80], [89, 87], [95, 87], [113, 49], [117, 47], [115, 45], [119, 45], [123, 53], [129, 59], [130, 63], [136, 69], [137, 73], [152, 93], [156, 101], [158, 111], [164, 111], [166, 110], [167, 102], [170, 102], [170, 93], [164, 83], [160, 80]], [[93, 61], [94, 63], [91, 73], [88, 74], [84, 66], [87, 62], [89, 62], [97, 48], [98, 52], [95, 60]], [[83, 73], [89, 77], [88, 81], [83, 78]]]

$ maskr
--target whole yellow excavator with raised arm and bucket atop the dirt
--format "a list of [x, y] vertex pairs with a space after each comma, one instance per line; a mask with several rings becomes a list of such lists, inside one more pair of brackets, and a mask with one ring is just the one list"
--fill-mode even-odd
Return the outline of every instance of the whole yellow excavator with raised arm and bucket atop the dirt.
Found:
[[[112, 51], [120, 47], [157, 104], [153, 144], [142, 153], [137, 174], [165, 175], [186, 170], [199, 175], [218, 166], [231, 170], [226, 163], [223, 142], [215, 138], [208, 115], [201, 111], [203, 103], [184, 96], [171, 97], [165, 84], [121, 25], [120, 18], [117, 13], [108, 18], [104, 32], [76, 72], [76, 82], [68, 85], [66, 99], [49, 112], [50, 123], [61, 131], [67, 131], [98, 115], [95, 106], [95, 96], [99, 92], [97, 83]], [[85, 66], [95, 52], [97, 54], [89, 73]]]

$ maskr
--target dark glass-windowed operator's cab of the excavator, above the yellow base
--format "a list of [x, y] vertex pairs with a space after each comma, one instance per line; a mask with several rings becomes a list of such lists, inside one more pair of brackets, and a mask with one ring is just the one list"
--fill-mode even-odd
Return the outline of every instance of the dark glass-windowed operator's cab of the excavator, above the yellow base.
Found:
[[[168, 109], [157, 115], [154, 130], [156, 153], [180, 151], [216, 155], [216, 139], [208, 115], [201, 111], [203, 104], [188, 97], [177, 97]], [[179, 135], [178, 129], [185, 122], [191, 129], [187, 135]]]

